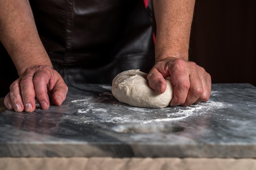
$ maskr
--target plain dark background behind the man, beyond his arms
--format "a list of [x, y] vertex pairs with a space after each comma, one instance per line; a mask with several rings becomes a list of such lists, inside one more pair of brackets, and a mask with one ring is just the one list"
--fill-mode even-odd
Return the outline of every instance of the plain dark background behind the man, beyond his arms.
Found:
[[[0, 46], [0, 97], [17, 78]], [[256, 86], [256, 0], [196, 0], [189, 58], [213, 83]]]

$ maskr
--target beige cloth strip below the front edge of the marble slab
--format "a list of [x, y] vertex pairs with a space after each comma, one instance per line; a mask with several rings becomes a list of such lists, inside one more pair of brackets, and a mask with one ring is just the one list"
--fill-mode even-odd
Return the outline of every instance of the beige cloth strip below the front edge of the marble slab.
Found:
[[0, 158], [0, 170], [255, 170], [256, 159], [233, 158]]

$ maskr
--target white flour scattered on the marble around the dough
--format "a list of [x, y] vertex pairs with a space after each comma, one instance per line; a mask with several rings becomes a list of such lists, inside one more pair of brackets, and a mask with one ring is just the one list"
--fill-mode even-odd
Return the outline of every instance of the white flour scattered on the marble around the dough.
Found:
[[[106, 86], [105, 88], [110, 88]], [[109, 102], [106, 104], [109, 95], [99, 97], [86, 97], [86, 99], [72, 100], [81, 113], [81, 123], [89, 122], [111, 122], [111, 123], [157, 123], [166, 121], [177, 121], [190, 116], [213, 113], [221, 108], [232, 108], [232, 104], [209, 100], [199, 104], [182, 107], [166, 107], [161, 109], [139, 108], [122, 104], [120, 102]], [[212, 95], [218, 95], [213, 91]], [[100, 103], [100, 104], [99, 104]], [[104, 105], [104, 107], [102, 107]], [[124, 114], [127, 113], [127, 114]]]

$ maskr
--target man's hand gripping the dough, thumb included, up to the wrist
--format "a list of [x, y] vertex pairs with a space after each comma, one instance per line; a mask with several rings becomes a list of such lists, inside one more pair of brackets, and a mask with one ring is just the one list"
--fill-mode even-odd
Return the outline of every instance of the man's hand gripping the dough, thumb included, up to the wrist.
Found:
[[170, 106], [190, 106], [206, 102], [211, 95], [211, 76], [194, 62], [171, 59], [157, 62], [148, 74], [148, 82], [157, 93], [164, 93], [165, 78], [171, 76], [174, 85]]

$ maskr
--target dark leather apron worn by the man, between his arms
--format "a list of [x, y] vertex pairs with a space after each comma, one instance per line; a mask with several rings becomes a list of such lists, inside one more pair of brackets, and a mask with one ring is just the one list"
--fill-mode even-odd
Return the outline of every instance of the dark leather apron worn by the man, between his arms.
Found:
[[111, 83], [154, 64], [143, 0], [30, 0], [40, 38], [67, 84]]

